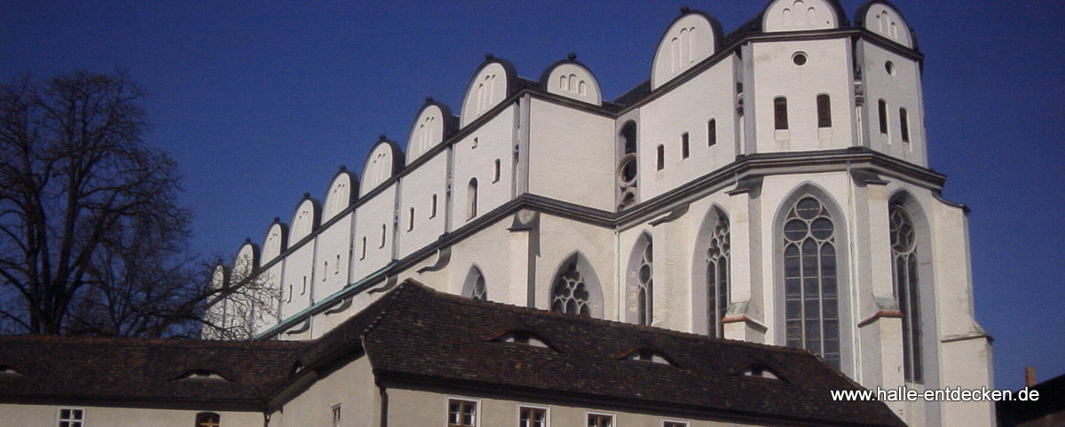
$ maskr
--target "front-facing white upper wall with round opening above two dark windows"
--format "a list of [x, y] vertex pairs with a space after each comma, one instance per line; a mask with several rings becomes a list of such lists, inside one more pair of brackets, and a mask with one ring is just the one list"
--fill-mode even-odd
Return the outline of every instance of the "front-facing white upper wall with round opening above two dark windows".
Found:
[[[748, 116], [755, 119], [758, 153], [841, 149], [853, 143], [850, 45], [849, 38], [752, 44], [753, 88], [744, 90], [754, 91], [754, 112]], [[805, 64], [796, 64], [798, 54], [806, 56]], [[829, 96], [831, 127], [818, 126], [817, 96], [821, 93]], [[787, 130], [775, 129], [777, 97], [787, 99]]]

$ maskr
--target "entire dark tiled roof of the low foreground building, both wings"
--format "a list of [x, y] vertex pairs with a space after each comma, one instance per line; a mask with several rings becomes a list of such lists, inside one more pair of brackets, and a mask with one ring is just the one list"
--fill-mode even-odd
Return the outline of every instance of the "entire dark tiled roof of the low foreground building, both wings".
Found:
[[[548, 348], [495, 340], [530, 332]], [[626, 360], [650, 349], [666, 363]], [[836, 403], [858, 389], [805, 351], [476, 302], [406, 281], [322, 338], [224, 342], [0, 337], [0, 402], [99, 402], [258, 410], [301, 372], [328, 373], [362, 352], [381, 379], [452, 390], [774, 423], [899, 425], [880, 403]], [[781, 380], [742, 376], [752, 365]], [[227, 380], [178, 379], [214, 371]], [[0, 370], [2, 371], [2, 370]]]

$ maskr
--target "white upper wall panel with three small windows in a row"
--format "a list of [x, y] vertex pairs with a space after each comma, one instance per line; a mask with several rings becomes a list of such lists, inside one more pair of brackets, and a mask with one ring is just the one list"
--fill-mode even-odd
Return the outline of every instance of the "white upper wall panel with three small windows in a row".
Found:
[[[640, 107], [639, 191], [646, 201], [736, 160], [734, 78], [735, 55]], [[717, 142], [708, 144], [708, 122], [717, 123]], [[688, 158], [682, 135], [688, 133]], [[657, 168], [657, 147], [665, 165]]]

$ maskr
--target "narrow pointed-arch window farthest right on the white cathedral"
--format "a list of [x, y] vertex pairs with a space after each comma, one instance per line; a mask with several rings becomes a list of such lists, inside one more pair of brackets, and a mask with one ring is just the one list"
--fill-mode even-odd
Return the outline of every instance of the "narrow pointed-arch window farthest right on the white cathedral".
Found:
[[891, 237], [891, 284], [902, 311], [903, 377], [907, 382], [936, 387], [935, 276], [928, 215], [917, 198], [905, 190], [888, 198], [886, 214]]

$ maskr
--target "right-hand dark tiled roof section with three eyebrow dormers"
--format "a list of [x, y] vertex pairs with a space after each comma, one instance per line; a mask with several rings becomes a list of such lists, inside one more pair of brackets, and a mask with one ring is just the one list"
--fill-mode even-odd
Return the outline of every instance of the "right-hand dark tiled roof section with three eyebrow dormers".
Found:
[[[833, 402], [861, 389], [806, 351], [711, 339], [443, 294], [405, 284], [366, 334], [375, 372], [446, 385], [816, 424], [900, 425], [881, 403]], [[551, 348], [493, 341], [532, 332]], [[673, 364], [624, 360], [650, 348]], [[782, 380], [740, 375], [767, 366]]]

